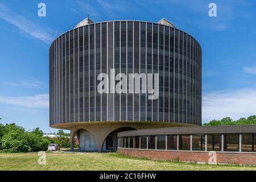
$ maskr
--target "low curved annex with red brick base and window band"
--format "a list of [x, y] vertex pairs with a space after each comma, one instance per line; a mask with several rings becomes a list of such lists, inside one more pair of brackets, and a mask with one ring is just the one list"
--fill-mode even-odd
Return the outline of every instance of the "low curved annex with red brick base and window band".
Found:
[[256, 126], [125, 131], [118, 133], [118, 152], [183, 162], [256, 165]]

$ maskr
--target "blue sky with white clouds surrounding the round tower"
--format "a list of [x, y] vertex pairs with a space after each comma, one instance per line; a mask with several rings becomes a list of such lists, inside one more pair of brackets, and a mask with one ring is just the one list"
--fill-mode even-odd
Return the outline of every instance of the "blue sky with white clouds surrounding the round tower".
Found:
[[[38, 16], [46, 3], [47, 16]], [[209, 17], [208, 5], [217, 5]], [[27, 130], [49, 127], [48, 49], [86, 18], [86, 0], [0, 1], [0, 118]], [[90, 0], [90, 18], [170, 20], [203, 48], [203, 122], [256, 114], [255, 1]]]

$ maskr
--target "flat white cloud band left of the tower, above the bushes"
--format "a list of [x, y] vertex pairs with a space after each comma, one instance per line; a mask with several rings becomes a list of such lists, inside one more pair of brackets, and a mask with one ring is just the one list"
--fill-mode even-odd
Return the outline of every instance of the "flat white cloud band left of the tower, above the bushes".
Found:
[[38, 94], [26, 97], [3, 97], [0, 96], [0, 103], [20, 108], [47, 109], [49, 107], [49, 95]]

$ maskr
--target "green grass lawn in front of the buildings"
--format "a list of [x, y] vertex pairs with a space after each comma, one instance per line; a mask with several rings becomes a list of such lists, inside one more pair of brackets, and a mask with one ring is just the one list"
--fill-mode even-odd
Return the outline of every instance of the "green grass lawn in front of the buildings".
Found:
[[37, 153], [0, 153], [0, 170], [255, 170], [249, 166], [225, 166], [164, 160], [137, 159], [115, 153], [47, 152], [46, 164]]

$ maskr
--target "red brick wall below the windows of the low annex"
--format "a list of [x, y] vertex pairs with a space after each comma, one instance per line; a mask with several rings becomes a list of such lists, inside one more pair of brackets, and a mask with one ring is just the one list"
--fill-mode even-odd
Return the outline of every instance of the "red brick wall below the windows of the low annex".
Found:
[[[118, 148], [119, 154], [138, 158], [179, 160], [180, 162], [208, 163], [212, 155], [204, 151], [163, 151]], [[256, 153], [216, 152], [218, 164], [256, 165]]]

